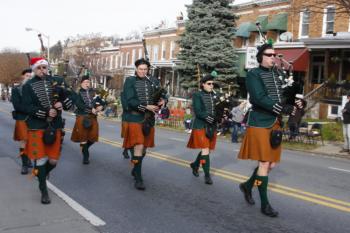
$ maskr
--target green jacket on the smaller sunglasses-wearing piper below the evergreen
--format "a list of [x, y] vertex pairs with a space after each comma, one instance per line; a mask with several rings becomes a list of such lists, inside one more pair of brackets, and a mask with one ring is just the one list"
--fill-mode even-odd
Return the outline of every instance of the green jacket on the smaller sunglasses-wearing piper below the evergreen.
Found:
[[[204, 129], [208, 124], [206, 119], [209, 116], [215, 118], [215, 116], [213, 116], [213, 114], [210, 114], [205, 107], [205, 104], [202, 98], [204, 93], [205, 91], [201, 90], [201, 91], [195, 92], [192, 96], [192, 107], [194, 112], [192, 129]], [[213, 97], [214, 99], [216, 99], [216, 95], [214, 95]]]

